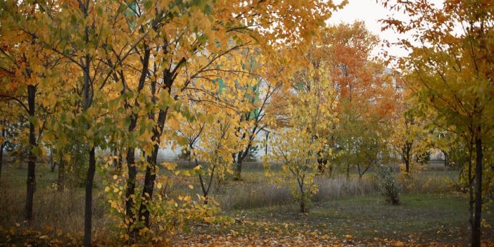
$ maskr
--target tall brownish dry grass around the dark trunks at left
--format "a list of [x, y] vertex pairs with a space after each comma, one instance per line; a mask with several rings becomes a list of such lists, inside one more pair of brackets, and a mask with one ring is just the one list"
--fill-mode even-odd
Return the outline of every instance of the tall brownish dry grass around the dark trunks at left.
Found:
[[[33, 219], [25, 222], [25, 170], [11, 168], [2, 172], [0, 185], [0, 225], [34, 227], [51, 232], [58, 230], [73, 236], [81, 235], [84, 227], [84, 189], [75, 188], [66, 191], [57, 191], [51, 186], [53, 177], [46, 170], [38, 172], [37, 189], [34, 193]], [[110, 231], [110, 217], [107, 203], [104, 203], [103, 194], [94, 189], [93, 229], [94, 236], [106, 236]]]

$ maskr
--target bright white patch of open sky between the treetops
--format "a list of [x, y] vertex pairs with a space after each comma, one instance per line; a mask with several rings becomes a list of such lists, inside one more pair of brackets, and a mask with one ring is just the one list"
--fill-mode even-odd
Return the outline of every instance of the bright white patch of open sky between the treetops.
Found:
[[[338, 1], [336, 1], [338, 2]], [[392, 30], [381, 31], [380, 19], [386, 18], [388, 15], [393, 15], [395, 18], [402, 19], [403, 13], [394, 13], [376, 3], [376, 0], [349, 0], [349, 3], [340, 11], [331, 16], [328, 23], [331, 25], [338, 23], [353, 23], [355, 20], [363, 20], [367, 29], [374, 34], [377, 34], [381, 40], [395, 42], [398, 35]], [[406, 56], [407, 51], [400, 50], [396, 47], [386, 48], [392, 56]], [[381, 47], [374, 50], [374, 55], [378, 55]]]

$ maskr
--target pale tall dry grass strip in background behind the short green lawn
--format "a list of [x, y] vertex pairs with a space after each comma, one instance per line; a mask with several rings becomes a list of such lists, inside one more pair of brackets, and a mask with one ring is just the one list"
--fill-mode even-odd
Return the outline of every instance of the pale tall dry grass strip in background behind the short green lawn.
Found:
[[[356, 176], [324, 177], [315, 179], [319, 188], [312, 201], [331, 201], [339, 198], [358, 196], [374, 196], [380, 194], [372, 173], [358, 179]], [[451, 191], [455, 184], [454, 172], [423, 171], [402, 182], [403, 193], [426, 194]], [[213, 194], [222, 210], [243, 208], [259, 208], [269, 205], [284, 205], [292, 203], [293, 198], [289, 188], [278, 188], [263, 177], [261, 171], [243, 173], [242, 182], [228, 182]]]

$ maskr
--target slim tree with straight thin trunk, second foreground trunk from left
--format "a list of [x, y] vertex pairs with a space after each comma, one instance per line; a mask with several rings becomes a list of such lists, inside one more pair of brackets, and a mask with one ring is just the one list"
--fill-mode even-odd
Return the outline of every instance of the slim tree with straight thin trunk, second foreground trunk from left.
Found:
[[[44, 50], [56, 53], [63, 58], [65, 71], [61, 80], [68, 82], [65, 87], [73, 89], [73, 98], [65, 101], [61, 115], [63, 118], [56, 118], [51, 121], [52, 137], [54, 133], [63, 134], [83, 139], [87, 144], [89, 166], [86, 179], [86, 197], [84, 212], [84, 246], [91, 244], [91, 215], [92, 215], [92, 186], [94, 172], [96, 170], [96, 147], [106, 143], [104, 135], [106, 131], [104, 121], [99, 122], [98, 117], [104, 115], [104, 109], [99, 106], [103, 91], [108, 82], [110, 71], [114, 68], [101, 63], [104, 58], [105, 49], [108, 49], [108, 42], [111, 40], [108, 27], [115, 26], [118, 20], [111, 19], [110, 16], [120, 16], [119, 13], [125, 8], [119, 8], [119, 4], [100, 3], [96, 5], [90, 1], [84, 3], [22, 3], [8, 2], [13, 10], [26, 4], [35, 9], [36, 18], [31, 16], [16, 15], [11, 13], [13, 23], [23, 34], [30, 37], [34, 44], [38, 44]], [[113, 14], [113, 15], [112, 15]], [[71, 18], [70, 22], [67, 19]], [[110, 21], [111, 23], [108, 23]], [[34, 25], [36, 23], [36, 25]], [[128, 43], [127, 43], [128, 44]], [[129, 49], [135, 43], [128, 44], [119, 50], [120, 53], [129, 53]], [[105, 69], [103, 69], [105, 68]], [[42, 70], [40, 73], [48, 73]], [[79, 74], [77, 72], [80, 72]], [[56, 99], [53, 97], [53, 99]], [[98, 102], [98, 103], [94, 103]], [[74, 114], [72, 114], [74, 113]], [[101, 120], [101, 118], [99, 118]], [[59, 146], [66, 143], [64, 139], [58, 139]]]

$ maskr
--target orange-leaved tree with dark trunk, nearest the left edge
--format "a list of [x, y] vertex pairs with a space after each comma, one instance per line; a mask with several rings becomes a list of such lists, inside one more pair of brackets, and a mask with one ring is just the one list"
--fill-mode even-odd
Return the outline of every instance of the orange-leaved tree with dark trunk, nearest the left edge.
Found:
[[32, 204], [36, 188], [36, 161], [44, 151], [39, 147], [39, 142], [52, 105], [52, 102], [48, 100], [49, 91], [44, 87], [51, 80], [55, 80], [56, 72], [53, 72], [61, 60], [53, 51], [47, 51], [42, 45], [37, 44], [34, 37], [30, 37], [16, 27], [15, 21], [17, 20], [32, 18], [32, 21], [37, 21], [39, 19], [39, 13], [35, 11], [34, 5], [2, 2], [1, 8], [8, 8], [11, 12], [4, 12], [1, 15], [4, 25], [2, 25], [3, 35], [0, 39], [2, 74], [0, 99], [18, 104], [29, 121], [25, 220], [32, 220]]

